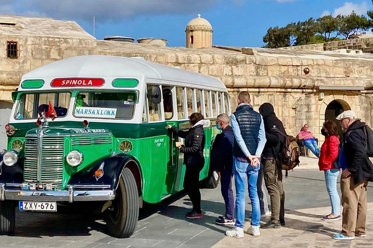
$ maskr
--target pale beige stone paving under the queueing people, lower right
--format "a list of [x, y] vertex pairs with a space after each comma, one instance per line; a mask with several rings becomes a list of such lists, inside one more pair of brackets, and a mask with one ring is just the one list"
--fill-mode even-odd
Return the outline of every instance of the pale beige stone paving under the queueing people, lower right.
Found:
[[[279, 229], [260, 229], [260, 236], [247, 233], [250, 222], [246, 222], [242, 239], [225, 237], [213, 248], [226, 247], [276, 247], [276, 248], [355, 248], [373, 247], [373, 203], [368, 204], [366, 238], [356, 237], [353, 241], [338, 241], [332, 235], [341, 230], [342, 220], [325, 221], [321, 217], [330, 212], [330, 207], [308, 208], [286, 211], [286, 226]], [[265, 223], [268, 217], [261, 219]]]

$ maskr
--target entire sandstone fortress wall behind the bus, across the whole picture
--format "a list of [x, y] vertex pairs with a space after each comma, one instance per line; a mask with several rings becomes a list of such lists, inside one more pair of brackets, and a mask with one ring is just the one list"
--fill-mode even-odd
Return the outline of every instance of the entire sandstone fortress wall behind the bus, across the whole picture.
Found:
[[[3, 77], [0, 83], [1, 101], [10, 102], [10, 93], [17, 87], [21, 75], [37, 66], [71, 56], [98, 54], [143, 57], [148, 61], [219, 78], [228, 88], [233, 109], [237, 106], [237, 93], [248, 91], [255, 109], [264, 102], [272, 103], [287, 132], [294, 136], [307, 123], [310, 131], [322, 141], [322, 123], [347, 109], [356, 111], [359, 118], [373, 124], [372, 54], [347, 53], [346, 50], [155, 47], [96, 41], [74, 22], [26, 17], [14, 19], [22, 26], [50, 22], [54, 23], [54, 27], [59, 25], [59, 28], [53, 28], [57, 37], [51, 36], [51, 24], [35, 25], [40, 36], [35, 36], [36, 31], [31, 28], [24, 28], [23, 35], [10, 36], [1, 30], [10, 30], [14, 26], [0, 25], [0, 46], [6, 47], [8, 41], [16, 41], [19, 51], [17, 59], [7, 58], [4, 52], [0, 54]], [[68, 28], [70, 31], [66, 31]], [[33, 35], [28, 35], [26, 29]], [[67, 33], [68, 37], [58, 36], [62, 35], [59, 30]], [[44, 37], [45, 33], [48, 35]], [[7, 122], [6, 115], [0, 118], [1, 123]], [[3, 127], [0, 127], [2, 130]]]

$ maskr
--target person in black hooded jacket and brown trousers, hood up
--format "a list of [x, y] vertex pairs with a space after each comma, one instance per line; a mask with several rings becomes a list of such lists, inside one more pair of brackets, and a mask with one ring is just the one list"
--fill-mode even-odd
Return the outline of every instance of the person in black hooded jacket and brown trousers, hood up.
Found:
[[[277, 165], [276, 159], [286, 139], [286, 131], [282, 122], [276, 117], [273, 106], [264, 103], [259, 107], [263, 116], [267, 142], [262, 153], [264, 168], [264, 182], [271, 196], [271, 220], [261, 228], [280, 228], [285, 225], [285, 192], [282, 185], [282, 169]], [[281, 134], [281, 133], [282, 134]]]

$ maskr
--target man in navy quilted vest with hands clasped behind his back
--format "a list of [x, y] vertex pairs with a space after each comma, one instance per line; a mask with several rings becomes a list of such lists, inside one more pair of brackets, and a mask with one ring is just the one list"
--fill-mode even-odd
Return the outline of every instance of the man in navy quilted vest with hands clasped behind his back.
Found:
[[243, 238], [245, 220], [245, 180], [247, 178], [249, 197], [252, 205], [251, 227], [248, 233], [259, 236], [260, 206], [256, 188], [260, 155], [266, 144], [266, 135], [262, 116], [251, 106], [250, 94], [238, 94], [238, 107], [231, 115], [231, 124], [235, 134], [233, 145], [233, 174], [236, 186], [237, 220], [233, 230], [226, 231], [230, 237]]

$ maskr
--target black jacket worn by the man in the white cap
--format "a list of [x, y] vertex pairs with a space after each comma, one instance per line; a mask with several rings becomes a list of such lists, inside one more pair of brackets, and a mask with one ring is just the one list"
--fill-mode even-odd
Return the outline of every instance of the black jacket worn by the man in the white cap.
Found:
[[355, 184], [364, 180], [373, 182], [373, 165], [365, 150], [364, 125], [357, 120], [343, 133], [344, 157]]

